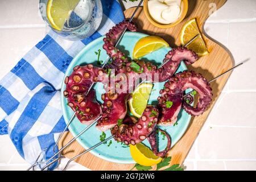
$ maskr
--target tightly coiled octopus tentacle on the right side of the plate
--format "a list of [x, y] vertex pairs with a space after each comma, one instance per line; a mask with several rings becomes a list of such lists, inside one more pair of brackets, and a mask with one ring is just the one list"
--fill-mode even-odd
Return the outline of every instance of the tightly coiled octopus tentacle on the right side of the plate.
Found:
[[[196, 90], [199, 94], [199, 102], [196, 107], [189, 105], [193, 102], [191, 96], [183, 99], [183, 93], [188, 88]], [[177, 73], [164, 84], [164, 89], [160, 90], [160, 94], [161, 96], [158, 100], [162, 112], [160, 114], [159, 125], [172, 125], [175, 123], [181, 106], [188, 114], [193, 116], [203, 114], [212, 101], [213, 96], [209, 82], [200, 73], [193, 71]], [[171, 102], [172, 106], [168, 107], [168, 102]]]

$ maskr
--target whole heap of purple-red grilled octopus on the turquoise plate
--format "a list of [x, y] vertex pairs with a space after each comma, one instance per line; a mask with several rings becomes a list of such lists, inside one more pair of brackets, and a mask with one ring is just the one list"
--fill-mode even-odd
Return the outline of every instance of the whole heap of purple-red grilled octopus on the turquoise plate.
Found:
[[[96, 125], [99, 130], [111, 129], [114, 139], [125, 144], [134, 145], [147, 138], [154, 154], [164, 156], [170, 150], [171, 138], [165, 131], [157, 129], [156, 125], [173, 123], [181, 106], [192, 115], [203, 113], [211, 101], [212, 92], [208, 82], [199, 74], [186, 71], [174, 76], [181, 60], [185, 60], [185, 64], [192, 64], [198, 59], [196, 53], [187, 48], [173, 48], [163, 60], [163, 62], [168, 62], [159, 69], [150, 62], [137, 61], [135, 63], [127, 59], [125, 54], [114, 46], [125, 28], [137, 31], [135, 24], [125, 20], [113, 27], [104, 38], [103, 48], [112, 58], [112, 63], [106, 65], [106, 69], [94, 67], [92, 64], [73, 68], [73, 73], [65, 78], [66, 90], [63, 94], [67, 97], [68, 105], [76, 111], [76, 116], [82, 123], [89, 124], [101, 115]], [[133, 92], [135, 85], [139, 82], [139, 78], [151, 82], [168, 82], [160, 91], [159, 104], [148, 105], [142, 117], [137, 121], [136, 118], [126, 114], [126, 102], [129, 93]], [[102, 105], [95, 100], [95, 90], [90, 90], [85, 96], [93, 82], [104, 84], [106, 93], [101, 96], [104, 101]], [[202, 83], [203, 85], [199, 86]], [[185, 104], [182, 100], [184, 89], [191, 85], [200, 93], [199, 104], [196, 108]], [[189, 99], [192, 100], [192, 98]], [[166, 106], [168, 101], [173, 102], [171, 107]], [[122, 124], [118, 126], [120, 119], [122, 119]], [[161, 152], [158, 152], [155, 139], [159, 131], [168, 139], [166, 149]]]

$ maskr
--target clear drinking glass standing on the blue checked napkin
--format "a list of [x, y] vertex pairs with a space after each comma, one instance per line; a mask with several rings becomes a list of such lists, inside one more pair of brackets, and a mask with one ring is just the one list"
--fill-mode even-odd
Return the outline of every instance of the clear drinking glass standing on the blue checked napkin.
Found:
[[102, 19], [102, 5], [100, 0], [80, 0], [70, 13], [69, 18], [61, 30], [57, 30], [52, 26], [51, 21], [48, 19], [47, 5], [49, 1], [59, 0], [40, 0], [40, 14], [44, 22], [64, 39], [81, 40], [87, 38], [100, 26]]

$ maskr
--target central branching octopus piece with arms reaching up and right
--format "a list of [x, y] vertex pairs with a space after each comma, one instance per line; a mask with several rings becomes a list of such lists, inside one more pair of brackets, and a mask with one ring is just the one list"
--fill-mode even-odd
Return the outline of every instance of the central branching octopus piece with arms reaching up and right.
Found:
[[[115, 70], [115, 75], [122, 73], [127, 79], [132, 80], [126, 83], [126, 88], [122, 88], [122, 92], [114, 93], [114, 100], [109, 99], [109, 93], [102, 95], [102, 100], [104, 100], [104, 105], [102, 106], [103, 114], [100, 121], [97, 123], [97, 128], [101, 131], [106, 131], [117, 125], [118, 119], [123, 119], [127, 112], [126, 102], [129, 90], [133, 90], [135, 87], [135, 81], [142, 73], [147, 73], [147, 80], [149, 81], [166, 81], [179, 67], [180, 61], [185, 60], [185, 63], [192, 64], [197, 59], [198, 56], [195, 52], [188, 50], [187, 48], [174, 48], [167, 53], [164, 61], [168, 61], [162, 68], [157, 68], [156, 65], [152, 63], [144, 63], [144, 61], [138, 61], [140, 67], [139, 70], [134, 71], [132, 64], [134, 61], [127, 59], [124, 53], [115, 48], [114, 45], [117, 42], [118, 37], [122, 34], [123, 30], [128, 28], [130, 31], [137, 31], [137, 27], [134, 23], [124, 21], [113, 27], [106, 38], [104, 38], [103, 48], [106, 53], [112, 58], [112, 63], [106, 65], [106, 68], [113, 68]], [[157, 78], [155, 77], [157, 76]], [[115, 80], [115, 85], [118, 85], [123, 79]], [[112, 90], [112, 88], [109, 88]], [[117, 90], [115, 90], [117, 91]], [[109, 106], [108, 106], [109, 105]], [[121, 113], [123, 111], [123, 113]]]

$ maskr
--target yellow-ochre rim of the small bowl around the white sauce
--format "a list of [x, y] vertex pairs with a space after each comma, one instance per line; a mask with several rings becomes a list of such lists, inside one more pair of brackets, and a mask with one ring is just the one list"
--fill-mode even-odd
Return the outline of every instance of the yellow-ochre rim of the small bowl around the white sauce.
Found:
[[182, 0], [181, 1], [181, 15], [176, 20], [176, 22], [170, 23], [170, 24], [160, 24], [160, 23], [156, 22], [151, 17], [151, 15], [148, 11], [147, 3], [148, 3], [148, 0], [144, 0], [144, 3], [143, 3], [144, 14], [147, 16], [147, 19], [150, 21], [150, 23], [152, 23], [154, 26], [159, 27], [159, 28], [170, 28], [170, 27], [176, 26], [176, 24], [180, 23], [185, 18], [185, 16], [187, 15], [187, 12], [188, 12], [188, 0]]

